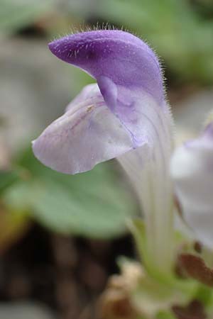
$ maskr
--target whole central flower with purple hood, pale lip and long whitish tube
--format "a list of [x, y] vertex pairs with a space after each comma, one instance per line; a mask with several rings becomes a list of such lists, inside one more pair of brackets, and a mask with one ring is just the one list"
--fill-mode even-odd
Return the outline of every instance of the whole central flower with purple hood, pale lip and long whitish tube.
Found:
[[121, 30], [72, 34], [49, 47], [97, 84], [85, 86], [33, 142], [35, 157], [66, 174], [116, 157], [143, 207], [150, 259], [167, 272], [173, 266], [173, 134], [157, 57], [143, 40]]

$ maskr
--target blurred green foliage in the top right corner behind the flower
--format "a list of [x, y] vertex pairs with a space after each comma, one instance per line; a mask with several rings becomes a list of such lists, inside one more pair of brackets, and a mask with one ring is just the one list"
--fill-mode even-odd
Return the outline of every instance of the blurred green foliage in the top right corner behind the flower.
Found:
[[179, 79], [213, 82], [213, 23], [189, 1], [100, 1], [98, 14], [148, 40]]

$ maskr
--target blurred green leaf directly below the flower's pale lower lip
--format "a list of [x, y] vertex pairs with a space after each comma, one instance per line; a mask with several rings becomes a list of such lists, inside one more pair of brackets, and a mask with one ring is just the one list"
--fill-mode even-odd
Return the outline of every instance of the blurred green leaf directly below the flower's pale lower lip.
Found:
[[70, 176], [43, 166], [28, 150], [18, 165], [31, 178], [7, 189], [4, 203], [11, 209], [31, 211], [33, 218], [56, 232], [114, 237], [124, 233], [126, 218], [136, 211], [112, 164]]

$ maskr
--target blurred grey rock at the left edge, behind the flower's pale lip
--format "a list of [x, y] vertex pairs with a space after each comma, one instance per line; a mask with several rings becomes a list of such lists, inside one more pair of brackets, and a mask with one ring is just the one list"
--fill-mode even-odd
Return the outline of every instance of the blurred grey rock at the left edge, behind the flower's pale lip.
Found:
[[62, 115], [84, 83], [51, 54], [48, 40], [8, 38], [0, 44], [0, 136], [18, 150]]

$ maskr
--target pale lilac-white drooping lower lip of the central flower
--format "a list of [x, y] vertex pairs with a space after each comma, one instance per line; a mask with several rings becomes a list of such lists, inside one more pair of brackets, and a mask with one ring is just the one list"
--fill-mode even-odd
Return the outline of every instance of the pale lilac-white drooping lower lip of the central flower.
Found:
[[107, 108], [97, 84], [86, 86], [33, 142], [40, 162], [67, 174], [88, 171], [131, 147], [131, 136]]

